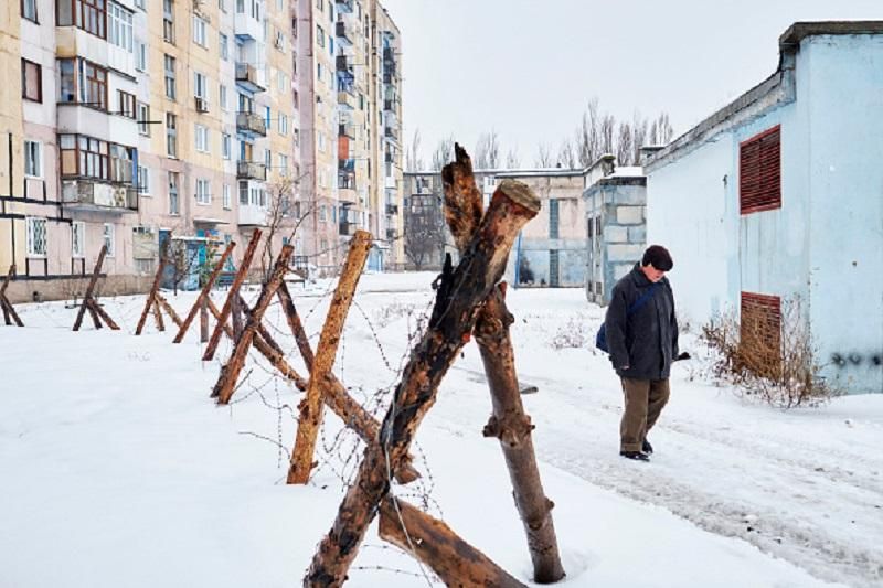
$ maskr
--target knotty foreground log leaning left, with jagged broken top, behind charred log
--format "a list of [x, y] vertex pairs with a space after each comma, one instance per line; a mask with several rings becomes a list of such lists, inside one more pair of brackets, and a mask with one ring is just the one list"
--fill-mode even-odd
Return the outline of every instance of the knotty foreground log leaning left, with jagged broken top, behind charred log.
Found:
[[[472, 174], [472, 162], [466, 151], [455, 147], [456, 160], [445, 165], [445, 217], [462, 255], [481, 218], [481, 192]], [[551, 584], [564, 577], [555, 525], [554, 503], [545, 496], [533, 450], [531, 418], [521, 403], [515, 355], [509, 327], [512, 314], [506, 307], [506, 284], [498, 285], [478, 313], [475, 335], [485, 365], [493, 415], [485, 427], [485, 437], [500, 440], [515, 506], [524, 525], [528, 548], [533, 562], [534, 581]]]

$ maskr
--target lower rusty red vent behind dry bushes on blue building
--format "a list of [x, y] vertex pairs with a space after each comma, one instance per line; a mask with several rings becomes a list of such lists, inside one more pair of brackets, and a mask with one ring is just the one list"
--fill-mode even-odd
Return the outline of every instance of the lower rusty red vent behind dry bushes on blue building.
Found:
[[747, 367], [774, 375], [781, 362], [781, 299], [742, 292], [740, 309], [740, 346]]

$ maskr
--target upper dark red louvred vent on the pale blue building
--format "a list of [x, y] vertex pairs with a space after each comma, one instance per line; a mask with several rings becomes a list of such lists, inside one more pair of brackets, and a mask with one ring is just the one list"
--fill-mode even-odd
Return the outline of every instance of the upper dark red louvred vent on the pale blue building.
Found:
[[780, 135], [777, 125], [740, 143], [740, 213], [781, 209]]

